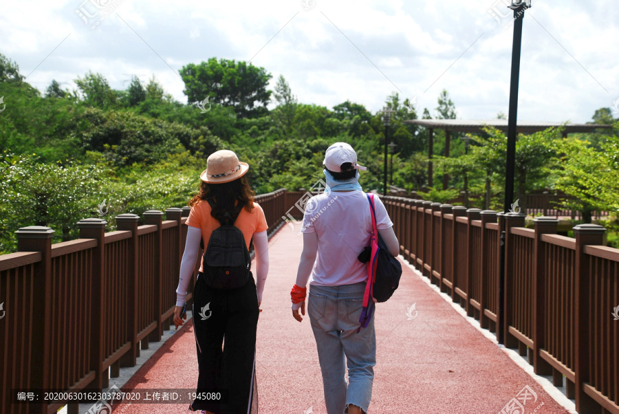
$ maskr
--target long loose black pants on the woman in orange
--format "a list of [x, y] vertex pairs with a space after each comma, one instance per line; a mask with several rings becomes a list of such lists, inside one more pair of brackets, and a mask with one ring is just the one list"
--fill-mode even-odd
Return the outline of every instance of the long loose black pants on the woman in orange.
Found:
[[[196, 398], [190, 409], [215, 414], [256, 413], [254, 357], [259, 310], [253, 276], [239, 289], [221, 290], [208, 287], [199, 275], [193, 292], [197, 393], [211, 394], [210, 398]], [[213, 400], [212, 393], [217, 391], [227, 402]]]

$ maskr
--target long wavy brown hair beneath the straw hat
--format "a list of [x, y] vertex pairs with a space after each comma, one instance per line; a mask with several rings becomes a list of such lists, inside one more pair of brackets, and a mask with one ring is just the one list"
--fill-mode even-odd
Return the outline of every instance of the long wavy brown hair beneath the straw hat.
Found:
[[247, 177], [243, 175], [221, 184], [209, 184], [203, 181], [199, 193], [194, 195], [188, 204], [193, 207], [200, 200], [213, 199], [215, 207], [210, 211], [210, 215], [216, 220], [222, 220], [226, 213], [231, 213], [235, 208], [245, 208], [251, 213], [254, 208], [254, 195]]

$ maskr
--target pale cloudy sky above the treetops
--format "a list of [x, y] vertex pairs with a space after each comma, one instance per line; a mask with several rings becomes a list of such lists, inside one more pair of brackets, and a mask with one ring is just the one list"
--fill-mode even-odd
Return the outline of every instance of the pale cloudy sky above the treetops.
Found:
[[[447, 89], [457, 117], [507, 113], [507, 0], [0, 0], [0, 52], [43, 90], [100, 72], [116, 89], [152, 76], [181, 102], [178, 70], [208, 58], [283, 74], [299, 102], [351, 100], [378, 111], [417, 97], [435, 115]], [[619, 111], [616, 0], [536, 1], [525, 13], [519, 119], [587, 122]], [[80, 14], [82, 17], [80, 17]], [[615, 114], [619, 116], [619, 112]]]

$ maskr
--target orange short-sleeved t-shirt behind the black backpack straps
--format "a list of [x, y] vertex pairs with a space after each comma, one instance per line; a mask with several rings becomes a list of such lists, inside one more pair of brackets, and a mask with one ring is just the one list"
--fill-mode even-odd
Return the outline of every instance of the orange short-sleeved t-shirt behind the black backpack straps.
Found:
[[[208, 241], [210, 240], [210, 234], [213, 230], [221, 226], [219, 221], [210, 215], [210, 210], [211, 208], [208, 201], [199, 200], [197, 204], [191, 208], [189, 217], [186, 221], [188, 226], [199, 228], [202, 232], [202, 240], [204, 241], [205, 250], [208, 246]], [[254, 203], [254, 208], [252, 208], [251, 213], [249, 213], [245, 208], [241, 210], [237, 221], [235, 221], [235, 226], [243, 232], [245, 242], [247, 243], [247, 248], [249, 248], [250, 241], [252, 240], [254, 233], [263, 232], [269, 228], [266, 222], [266, 217], [264, 217], [264, 211], [257, 203]], [[202, 272], [203, 259], [200, 259], [200, 272]]]

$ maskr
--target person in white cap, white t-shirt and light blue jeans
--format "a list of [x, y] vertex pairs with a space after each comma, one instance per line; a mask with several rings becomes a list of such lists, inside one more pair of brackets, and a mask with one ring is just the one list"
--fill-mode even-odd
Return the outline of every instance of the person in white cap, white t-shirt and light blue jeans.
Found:
[[[367, 413], [376, 364], [373, 316], [360, 329], [367, 282], [367, 266], [357, 257], [368, 246], [372, 221], [367, 196], [358, 182], [354, 149], [336, 142], [325, 153], [327, 190], [307, 202], [303, 216], [303, 253], [292, 287], [292, 316], [305, 315], [305, 293], [310, 281], [307, 314], [316, 338], [318, 360], [328, 414]], [[393, 256], [399, 243], [393, 223], [378, 197], [376, 228]], [[345, 380], [347, 360], [349, 384]]]

